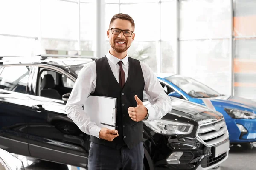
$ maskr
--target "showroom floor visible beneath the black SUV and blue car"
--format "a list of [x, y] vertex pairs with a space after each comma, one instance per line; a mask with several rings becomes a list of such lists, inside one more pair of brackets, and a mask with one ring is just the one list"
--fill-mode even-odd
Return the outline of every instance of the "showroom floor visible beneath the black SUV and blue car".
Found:
[[[22, 158], [25, 170], [85, 170], [84, 168], [55, 164], [52, 162], [38, 161]], [[219, 168], [215, 170], [255, 170], [256, 168], [256, 145], [245, 144], [230, 147], [230, 154]]]

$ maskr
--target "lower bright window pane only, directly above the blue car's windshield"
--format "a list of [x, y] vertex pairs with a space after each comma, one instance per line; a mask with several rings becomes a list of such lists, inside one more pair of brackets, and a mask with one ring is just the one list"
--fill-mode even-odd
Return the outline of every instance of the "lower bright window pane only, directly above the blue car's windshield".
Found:
[[229, 40], [180, 42], [180, 74], [193, 77], [221, 94], [231, 93]]

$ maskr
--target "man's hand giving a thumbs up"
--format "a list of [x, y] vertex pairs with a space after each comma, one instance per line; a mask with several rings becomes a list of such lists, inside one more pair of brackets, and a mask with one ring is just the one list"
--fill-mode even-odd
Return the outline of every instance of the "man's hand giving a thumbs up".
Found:
[[135, 95], [135, 100], [137, 102], [137, 107], [129, 107], [128, 113], [129, 117], [135, 122], [139, 122], [145, 119], [146, 115], [148, 114], [148, 109], [143, 105], [143, 102], [139, 99], [137, 95]]

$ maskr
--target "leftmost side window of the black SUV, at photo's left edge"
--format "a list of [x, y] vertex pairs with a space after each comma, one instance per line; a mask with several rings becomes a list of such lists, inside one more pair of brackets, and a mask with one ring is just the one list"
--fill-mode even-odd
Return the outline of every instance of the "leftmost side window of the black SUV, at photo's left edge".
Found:
[[0, 74], [0, 88], [25, 94], [30, 69], [25, 65], [4, 67]]

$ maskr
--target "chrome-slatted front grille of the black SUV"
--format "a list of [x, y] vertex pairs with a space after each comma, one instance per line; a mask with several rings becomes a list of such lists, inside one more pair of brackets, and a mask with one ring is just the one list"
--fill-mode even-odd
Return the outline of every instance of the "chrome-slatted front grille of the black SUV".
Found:
[[224, 118], [215, 122], [199, 125], [197, 136], [198, 139], [208, 147], [226, 140], [229, 135]]

